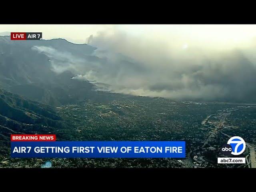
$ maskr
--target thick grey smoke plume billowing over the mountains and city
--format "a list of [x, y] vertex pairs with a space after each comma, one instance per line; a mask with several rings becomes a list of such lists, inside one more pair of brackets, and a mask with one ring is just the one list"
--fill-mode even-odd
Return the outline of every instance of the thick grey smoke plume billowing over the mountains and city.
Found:
[[[66, 68], [87, 80], [110, 85], [112, 92], [161, 96], [176, 100], [255, 102], [256, 46], [212, 48], [143, 39], [118, 30], [88, 38], [97, 47], [86, 60], [54, 53], [68, 60]], [[172, 43], [173, 42], [173, 43]], [[46, 50], [56, 52], [58, 50]], [[58, 67], [55, 65], [55, 70]]]

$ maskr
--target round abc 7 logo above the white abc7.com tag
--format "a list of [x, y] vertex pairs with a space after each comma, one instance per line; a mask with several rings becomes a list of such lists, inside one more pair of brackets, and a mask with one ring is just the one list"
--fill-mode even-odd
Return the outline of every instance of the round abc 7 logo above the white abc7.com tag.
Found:
[[240, 155], [246, 147], [245, 141], [238, 136], [234, 136], [228, 140], [227, 144], [222, 145], [220, 151], [224, 155]]

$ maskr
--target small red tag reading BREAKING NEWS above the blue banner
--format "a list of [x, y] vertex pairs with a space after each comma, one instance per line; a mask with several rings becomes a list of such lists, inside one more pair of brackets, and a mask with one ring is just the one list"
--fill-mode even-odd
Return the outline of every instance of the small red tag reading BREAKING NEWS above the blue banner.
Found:
[[20, 135], [11, 134], [11, 141], [56, 141], [56, 135]]

